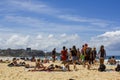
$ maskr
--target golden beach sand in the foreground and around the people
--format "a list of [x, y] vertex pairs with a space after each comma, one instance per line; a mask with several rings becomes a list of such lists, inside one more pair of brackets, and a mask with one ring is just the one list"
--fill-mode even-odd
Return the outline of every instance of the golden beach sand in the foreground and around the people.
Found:
[[[27, 62], [34, 65], [34, 62]], [[51, 62], [52, 63], [52, 62]], [[51, 63], [44, 64], [46, 66]], [[60, 64], [59, 61], [54, 64]], [[115, 66], [106, 65], [106, 72], [99, 72], [98, 66], [93, 66], [91, 70], [77, 65], [78, 70], [72, 71], [27, 71], [24, 67], [8, 67], [8, 63], [0, 63], [0, 80], [120, 80], [120, 72], [112, 71]], [[61, 64], [62, 65], [62, 64]]]

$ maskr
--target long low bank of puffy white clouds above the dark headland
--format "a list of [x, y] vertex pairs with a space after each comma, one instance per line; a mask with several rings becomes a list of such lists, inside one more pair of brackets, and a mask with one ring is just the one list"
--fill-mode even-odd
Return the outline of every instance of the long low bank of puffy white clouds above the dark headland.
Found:
[[53, 34], [46, 33], [38, 35], [11, 34], [7, 37], [3, 37], [0, 35], [0, 37], [1, 48], [16, 49], [31, 47], [32, 49], [42, 49], [51, 51], [54, 47], [56, 47], [57, 50], [60, 51], [63, 46], [66, 46], [67, 48], [70, 48], [73, 45], [81, 47], [81, 44], [83, 44], [80, 37], [77, 34], [67, 35], [64, 36], [64, 38], [61, 37], [61, 34], [58, 34], [57, 36], [53, 37]]

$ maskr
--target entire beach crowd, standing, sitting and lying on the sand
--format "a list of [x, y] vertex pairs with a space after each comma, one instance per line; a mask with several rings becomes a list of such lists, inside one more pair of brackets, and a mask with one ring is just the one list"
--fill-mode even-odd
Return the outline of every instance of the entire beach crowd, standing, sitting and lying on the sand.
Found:
[[[82, 65], [84, 68], [87, 67], [88, 70], [90, 70], [93, 65], [97, 65], [99, 66], [98, 71], [105, 71], [105, 65], [117, 64], [115, 70], [120, 71], [120, 64], [118, 64], [119, 62], [116, 61], [114, 56], [110, 57], [107, 63], [105, 64], [104, 60], [106, 58], [106, 50], [104, 48], [104, 45], [100, 46], [99, 51], [97, 51], [95, 47], [89, 47], [88, 44], [82, 45], [81, 49], [76, 48], [75, 45], [73, 45], [72, 48], [69, 49], [63, 46], [60, 56], [60, 60], [63, 66], [54, 64], [56, 62], [56, 48], [52, 50], [51, 57], [52, 63], [49, 59], [47, 59], [47, 57], [45, 57], [44, 60], [32, 57], [30, 61], [35, 62], [34, 66], [27, 64], [25, 61], [18, 63], [18, 59], [13, 58], [12, 62], [9, 63], [8, 66], [24, 66], [25, 68], [29, 68], [29, 71], [71, 71], [70, 65], [73, 65], [73, 70], [77, 71], [77, 65]], [[0, 62], [2, 62], [2, 60]], [[49, 63], [49, 65], [45, 66], [44, 63]]]

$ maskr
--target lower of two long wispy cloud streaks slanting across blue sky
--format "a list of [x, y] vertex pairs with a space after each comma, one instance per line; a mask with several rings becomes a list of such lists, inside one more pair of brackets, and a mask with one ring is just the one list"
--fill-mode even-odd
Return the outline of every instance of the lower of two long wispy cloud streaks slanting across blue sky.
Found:
[[4, 19], [6, 22], [15, 23], [29, 29], [37, 29], [40, 31], [51, 31], [51, 32], [76, 32], [76, 31], [106, 31], [94, 26], [82, 26], [82, 25], [71, 25], [71, 24], [60, 24], [55, 22], [48, 22], [41, 19], [24, 16], [6, 16]]

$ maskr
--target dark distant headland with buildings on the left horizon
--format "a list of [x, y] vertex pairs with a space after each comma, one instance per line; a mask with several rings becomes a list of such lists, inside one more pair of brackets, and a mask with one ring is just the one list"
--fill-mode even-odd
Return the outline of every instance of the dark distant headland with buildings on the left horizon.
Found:
[[32, 50], [31, 48], [26, 49], [0, 49], [0, 56], [14, 56], [14, 57], [25, 57], [25, 56], [45, 56], [42, 50]]

